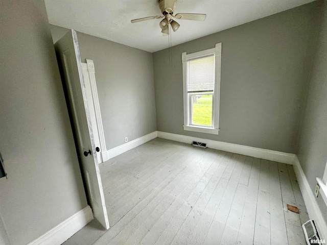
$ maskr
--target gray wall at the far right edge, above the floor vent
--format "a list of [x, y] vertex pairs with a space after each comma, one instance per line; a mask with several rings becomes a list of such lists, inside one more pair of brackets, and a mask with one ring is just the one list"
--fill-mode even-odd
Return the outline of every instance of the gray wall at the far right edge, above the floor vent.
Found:
[[[302, 117], [297, 156], [314, 192], [316, 177], [322, 178], [327, 162], [327, 4], [321, 6], [324, 16], [317, 37], [317, 50], [312, 66], [307, 106]], [[326, 205], [318, 204], [327, 220]]]

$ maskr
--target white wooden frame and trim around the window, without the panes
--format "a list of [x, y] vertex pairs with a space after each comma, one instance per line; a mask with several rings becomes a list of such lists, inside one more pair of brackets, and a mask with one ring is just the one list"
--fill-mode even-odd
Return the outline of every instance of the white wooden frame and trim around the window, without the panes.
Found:
[[[182, 65], [183, 65], [183, 107], [184, 107], [184, 130], [194, 131], [207, 134], [219, 134], [219, 102], [220, 102], [220, 74], [221, 74], [221, 47], [222, 43], [217, 43], [214, 48], [203, 50], [200, 52], [186, 54], [182, 53]], [[187, 76], [188, 76], [188, 61], [206, 57], [209, 55], [215, 55], [215, 87], [213, 94], [213, 118], [212, 127], [192, 125], [192, 115], [190, 96], [187, 89]]]

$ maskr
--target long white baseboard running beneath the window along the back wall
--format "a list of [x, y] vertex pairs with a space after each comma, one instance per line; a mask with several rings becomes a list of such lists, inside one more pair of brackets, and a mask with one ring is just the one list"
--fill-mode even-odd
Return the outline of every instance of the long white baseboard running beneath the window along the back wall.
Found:
[[193, 140], [195, 140], [195, 141], [206, 143], [208, 148], [231, 152], [231, 153], [237, 153], [250, 157], [262, 158], [270, 161], [282, 162], [286, 164], [293, 164], [294, 157], [295, 157], [294, 154], [290, 154], [290, 153], [265, 150], [265, 149], [255, 148], [246, 145], [232, 144], [232, 143], [226, 143], [216, 140], [185, 136], [180, 134], [172, 134], [172, 133], [158, 131], [157, 135], [159, 138], [174, 140], [183, 143], [190, 143], [190, 144], [192, 143]]

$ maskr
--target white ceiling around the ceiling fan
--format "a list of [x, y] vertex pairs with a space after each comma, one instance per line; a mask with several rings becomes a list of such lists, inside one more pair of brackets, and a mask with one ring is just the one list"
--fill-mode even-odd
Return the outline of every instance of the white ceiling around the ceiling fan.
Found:
[[[240, 24], [282, 12], [314, 0], [178, 0], [175, 13], [205, 13], [205, 21], [177, 20], [172, 45], [191, 41]], [[159, 19], [158, 0], [45, 0], [49, 22], [56, 26], [155, 52], [168, 47]]]

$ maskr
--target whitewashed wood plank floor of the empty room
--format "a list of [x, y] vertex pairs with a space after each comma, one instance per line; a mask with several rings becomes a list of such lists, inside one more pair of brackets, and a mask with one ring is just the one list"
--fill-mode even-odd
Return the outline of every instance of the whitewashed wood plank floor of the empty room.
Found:
[[93, 220], [65, 245], [307, 244], [291, 165], [156, 138], [100, 169], [110, 229]]

